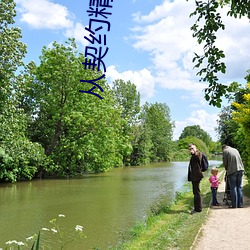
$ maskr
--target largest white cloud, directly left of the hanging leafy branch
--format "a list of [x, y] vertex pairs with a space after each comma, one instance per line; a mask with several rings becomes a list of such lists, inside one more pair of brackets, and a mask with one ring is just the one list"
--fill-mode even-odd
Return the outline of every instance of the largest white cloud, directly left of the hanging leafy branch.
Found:
[[135, 14], [139, 25], [133, 29], [134, 48], [150, 52], [155, 83], [160, 87], [203, 96], [207, 85], [194, 83], [192, 56], [197, 45], [190, 31], [192, 8], [193, 4], [182, 0], [165, 1], [148, 15]]

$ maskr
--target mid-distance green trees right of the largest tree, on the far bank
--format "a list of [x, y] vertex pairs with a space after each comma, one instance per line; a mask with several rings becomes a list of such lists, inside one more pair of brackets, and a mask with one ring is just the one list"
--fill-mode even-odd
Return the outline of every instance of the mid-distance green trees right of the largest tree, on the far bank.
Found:
[[113, 83], [115, 100], [121, 107], [123, 130], [132, 153], [123, 157], [125, 165], [142, 165], [171, 159], [172, 123], [166, 104], [144, 104], [140, 111], [140, 95], [131, 82], [116, 80]]

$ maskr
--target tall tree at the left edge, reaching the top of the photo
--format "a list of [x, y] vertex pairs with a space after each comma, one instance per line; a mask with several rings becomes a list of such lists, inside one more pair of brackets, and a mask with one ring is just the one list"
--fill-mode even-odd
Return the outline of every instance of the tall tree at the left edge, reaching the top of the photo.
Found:
[[22, 58], [26, 54], [26, 45], [20, 41], [21, 30], [12, 26], [15, 7], [13, 0], [0, 2], [0, 112], [14, 101], [13, 97], [10, 100], [13, 91], [18, 94], [22, 90], [15, 72], [24, 65]]

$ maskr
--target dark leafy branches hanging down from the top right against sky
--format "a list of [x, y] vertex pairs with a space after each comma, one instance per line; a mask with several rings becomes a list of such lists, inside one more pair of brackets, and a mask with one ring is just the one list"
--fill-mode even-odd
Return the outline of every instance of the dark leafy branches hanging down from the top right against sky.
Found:
[[[193, 62], [196, 68], [200, 69], [200, 81], [209, 83], [205, 89], [205, 99], [209, 104], [221, 107], [221, 97], [232, 91], [230, 87], [219, 83], [218, 74], [226, 72], [226, 65], [223, 62], [225, 54], [216, 45], [216, 34], [225, 25], [222, 22], [219, 7], [230, 5], [228, 15], [235, 18], [248, 16], [250, 19], [249, 0], [199, 0], [196, 2], [196, 9], [190, 16], [197, 16], [196, 22], [191, 27], [193, 37], [197, 38], [199, 44], [204, 43], [202, 55], [195, 53]], [[201, 68], [205, 64], [205, 67]]]

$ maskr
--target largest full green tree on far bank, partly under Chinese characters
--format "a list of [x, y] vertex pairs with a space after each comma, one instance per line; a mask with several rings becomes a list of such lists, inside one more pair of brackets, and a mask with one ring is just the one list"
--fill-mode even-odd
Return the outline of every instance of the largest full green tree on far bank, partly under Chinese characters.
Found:
[[[86, 171], [107, 171], [122, 164], [121, 152], [130, 147], [121, 138], [121, 110], [104, 79], [98, 80], [102, 100], [88, 93], [92, 86], [82, 80], [102, 76], [101, 71], [85, 70], [83, 54], [74, 39], [66, 44], [44, 47], [40, 65], [29, 65], [29, 135], [43, 145], [56, 166], [42, 169], [50, 174], [75, 175]], [[25, 103], [26, 102], [26, 103]]]

